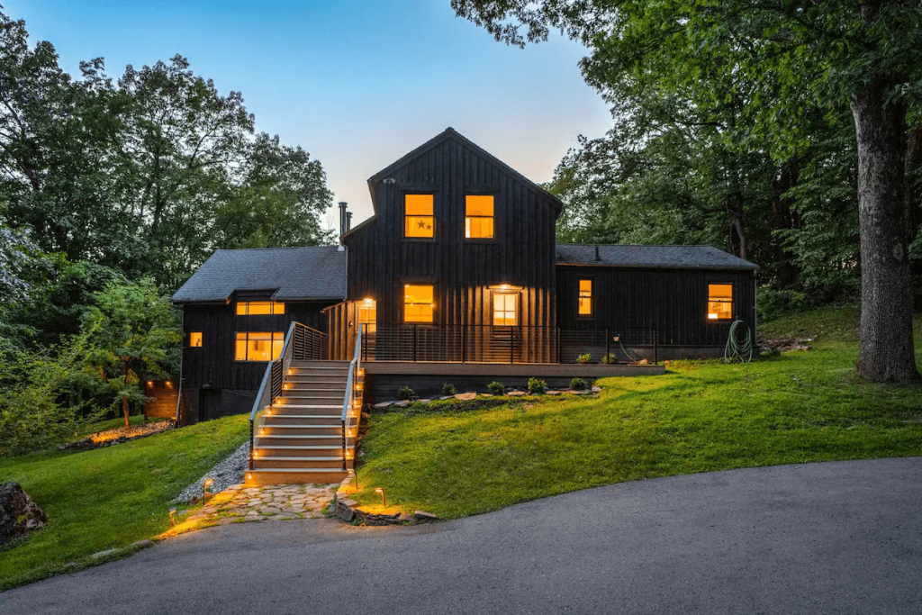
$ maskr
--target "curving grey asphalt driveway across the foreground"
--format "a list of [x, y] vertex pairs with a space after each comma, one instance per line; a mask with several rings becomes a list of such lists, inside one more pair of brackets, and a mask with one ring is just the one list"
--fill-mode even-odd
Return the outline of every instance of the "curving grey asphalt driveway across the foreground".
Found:
[[432, 526], [221, 526], [17, 613], [922, 613], [922, 458], [646, 480]]

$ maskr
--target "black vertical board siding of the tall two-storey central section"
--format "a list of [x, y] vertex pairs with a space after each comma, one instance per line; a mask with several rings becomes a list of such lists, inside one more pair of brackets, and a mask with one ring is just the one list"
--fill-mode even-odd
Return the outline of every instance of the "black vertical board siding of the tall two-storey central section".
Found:
[[[509, 284], [521, 288], [519, 325], [556, 324], [558, 211], [550, 195], [453, 138], [402, 161], [371, 188], [376, 217], [343, 238], [349, 249], [349, 303], [374, 299], [379, 324], [400, 324], [404, 285], [431, 284], [433, 324], [490, 325], [489, 287]], [[433, 239], [404, 238], [406, 194], [433, 195]], [[465, 238], [465, 195], [493, 195], [493, 239]], [[351, 316], [354, 310], [344, 312]], [[337, 322], [354, 327], [349, 317]]]

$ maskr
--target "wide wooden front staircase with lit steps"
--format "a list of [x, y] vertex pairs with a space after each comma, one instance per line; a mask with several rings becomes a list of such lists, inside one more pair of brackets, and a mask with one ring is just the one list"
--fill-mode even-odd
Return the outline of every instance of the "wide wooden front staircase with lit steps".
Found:
[[[355, 374], [356, 399], [346, 438], [345, 467], [353, 467], [361, 417], [362, 379]], [[342, 409], [349, 361], [291, 361], [281, 396], [254, 423], [253, 468], [246, 484], [339, 482], [343, 469]]]

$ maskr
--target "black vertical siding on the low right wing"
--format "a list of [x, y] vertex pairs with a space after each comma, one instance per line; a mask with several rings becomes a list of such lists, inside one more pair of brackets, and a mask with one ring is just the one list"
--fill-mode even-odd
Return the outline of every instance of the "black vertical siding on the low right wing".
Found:
[[[579, 280], [593, 280], [591, 318], [577, 313]], [[755, 339], [755, 275], [746, 270], [557, 266], [561, 328], [656, 327], [660, 347], [723, 349], [730, 324], [707, 320], [707, 285], [733, 285], [733, 315]]]

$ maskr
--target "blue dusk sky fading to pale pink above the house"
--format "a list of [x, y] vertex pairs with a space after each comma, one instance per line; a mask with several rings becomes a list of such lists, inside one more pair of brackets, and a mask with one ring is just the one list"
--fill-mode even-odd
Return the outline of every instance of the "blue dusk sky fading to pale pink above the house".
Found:
[[580, 74], [585, 48], [560, 36], [509, 47], [455, 17], [450, 0], [4, 0], [3, 10], [75, 76], [99, 56], [112, 77], [185, 56], [221, 94], [242, 92], [257, 131], [321, 161], [353, 225], [372, 215], [366, 180], [448, 126], [541, 183], [577, 136], [611, 125]]

